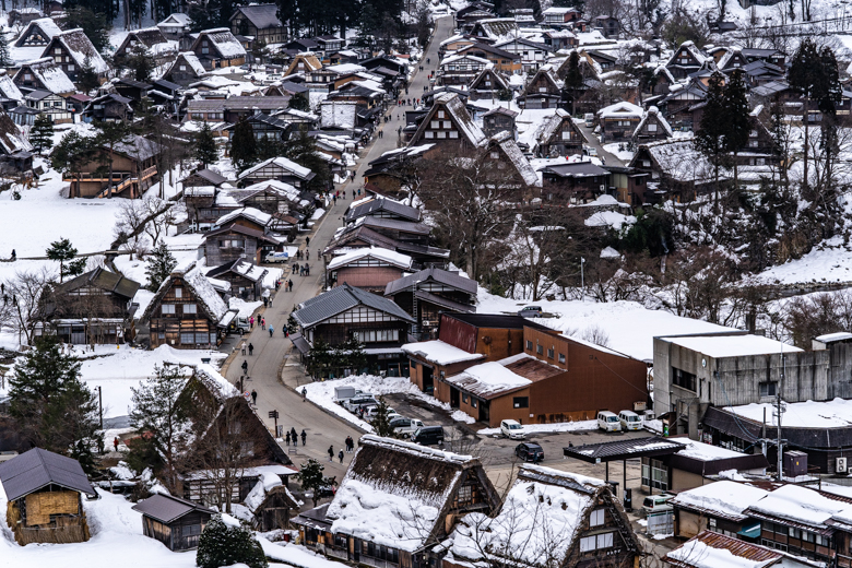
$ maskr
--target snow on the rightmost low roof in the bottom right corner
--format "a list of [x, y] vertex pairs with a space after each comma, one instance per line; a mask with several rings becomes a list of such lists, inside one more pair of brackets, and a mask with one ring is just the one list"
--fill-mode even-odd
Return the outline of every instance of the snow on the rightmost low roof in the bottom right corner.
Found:
[[748, 511], [825, 528], [832, 516], [852, 506], [800, 485], [783, 485], [748, 507]]

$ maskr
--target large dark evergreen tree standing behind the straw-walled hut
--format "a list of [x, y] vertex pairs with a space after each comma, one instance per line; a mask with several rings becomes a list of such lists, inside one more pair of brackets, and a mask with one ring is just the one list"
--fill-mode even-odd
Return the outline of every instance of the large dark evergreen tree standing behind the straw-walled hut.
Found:
[[33, 445], [72, 455], [92, 472], [98, 441], [97, 398], [80, 380], [81, 363], [40, 339], [9, 379], [10, 414]]

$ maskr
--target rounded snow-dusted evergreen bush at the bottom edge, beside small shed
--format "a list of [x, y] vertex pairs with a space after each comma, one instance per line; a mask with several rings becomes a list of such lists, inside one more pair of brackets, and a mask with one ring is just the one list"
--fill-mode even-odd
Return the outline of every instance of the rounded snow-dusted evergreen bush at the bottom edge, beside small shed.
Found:
[[213, 516], [199, 537], [196, 565], [199, 568], [220, 568], [239, 563], [249, 568], [269, 566], [260, 543], [250, 530], [226, 524], [222, 514]]

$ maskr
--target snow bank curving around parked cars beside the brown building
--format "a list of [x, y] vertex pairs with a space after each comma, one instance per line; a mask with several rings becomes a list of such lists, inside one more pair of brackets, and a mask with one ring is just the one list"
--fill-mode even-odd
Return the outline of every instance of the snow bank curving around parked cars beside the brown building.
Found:
[[[331, 414], [340, 416], [344, 421], [354, 424], [355, 426], [366, 431], [372, 431], [372, 426], [334, 402], [335, 387], [355, 387], [358, 390], [371, 392], [376, 397], [380, 397], [382, 394], [409, 394], [421, 399], [431, 406], [437, 406], [448, 412], [451, 411], [449, 404], [442, 403], [439, 400], [421, 392], [417, 386], [411, 382], [407, 377], [354, 375], [343, 379], [311, 382], [310, 384], [305, 386], [305, 389], [308, 391], [307, 397], [310, 402], [321, 406]], [[464, 414], [461, 411], [452, 411], [451, 416], [452, 419], [457, 422], [463, 422], [466, 424], [473, 424], [475, 422], [471, 416]]]

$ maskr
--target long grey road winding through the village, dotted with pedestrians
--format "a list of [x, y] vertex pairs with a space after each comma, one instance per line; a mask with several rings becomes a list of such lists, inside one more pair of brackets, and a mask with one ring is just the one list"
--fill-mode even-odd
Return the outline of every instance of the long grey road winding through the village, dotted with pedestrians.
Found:
[[[451, 16], [437, 21], [433, 40], [426, 55], [424, 55], [424, 72], [417, 72], [412, 79], [412, 84], [409, 87], [410, 94], [423, 93], [423, 85], [428, 83], [428, 71], [437, 68], [438, 46], [450, 37], [451, 33]], [[430, 66], [426, 64], [426, 58], [430, 58]], [[401, 96], [404, 96], [404, 93]], [[245, 357], [237, 355], [226, 372], [227, 379], [236, 383], [240, 375], [242, 375], [242, 362], [247, 360], [250, 379], [246, 381], [245, 389], [258, 392], [258, 413], [264, 423], [272, 428], [274, 421], [269, 418], [269, 413], [276, 410], [280, 414], [279, 424], [284, 427], [285, 431], [293, 427], [299, 434], [301, 434], [303, 429], [307, 433], [306, 446], [301, 446], [300, 442], [295, 449], [293, 446], [289, 448], [285, 446], [285, 449], [289, 450], [293, 463], [299, 466], [308, 458], [316, 458], [326, 465], [326, 474], [336, 476], [338, 481], [343, 478], [352, 454], [346, 454], [343, 464], [341, 464], [336, 453], [343, 448], [347, 436], [352, 436], [357, 441], [360, 437], [360, 431], [340, 418], [327, 414], [322, 409], [310, 402], [303, 402], [301, 395], [296, 392], [295, 388], [297, 384], [304, 384], [310, 379], [298, 365], [297, 352], [293, 348], [291, 341], [284, 339], [282, 330], [286, 326], [287, 318], [294, 306], [320, 293], [324, 267], [321, 261], [318, 261], [317, 251], [329, 242], [334, 232], [342, 225], [342, 216], [352, 202], [353, 191], [357, 191], [362, 187], [360, 179], [368, 163], [384, 152], [397, 147], [397, 130], [400, 126], [404, 126], [404, 118], [398, 119], [397, 117], [403, 117], [404, 109], [395, 104], [391, 104], [388, 114], [393, 119], [380, 125], [380, 128], [384, 129], [386, 135], [383, 138], [375, 138], [372, 145], [366, 150], [358, 162], [355, 178], [357, 181], [342, 184], [338, 187], [338, 189], [345, 191], [347, 199], [338, 200], [335, 205], [329, 208], [326, 215], [309, 235], [310, 260], [307, 262], [310, 265], [310, 276], [301, 277], [288, 274], [289, 264], [287, 264], [285, 275], [287, 279], [293, 280], [293, 292], [283, 292], [282, 288], [275, 296], [273, 306], [261, 312], [261, 316], [267, 319], [267, 326], [271, 324], [273, 327], [273, 336], [270, 336], [268, 330], [262, 330], [259, 326], [256, 327], [251, 333], [245, 336], [246, 342], [255, 346], [255, 355]], [[303, 251], [308, 248], [303, 236], [295, 244]], [[305, 262], [304, 260], [301, 261], [303, 264]], [[284, 375], [283, 382], [280, 380], [282, 374]], [[329, 446], [333, 447], [334, 450], [333, 463], [328, 461]]]

